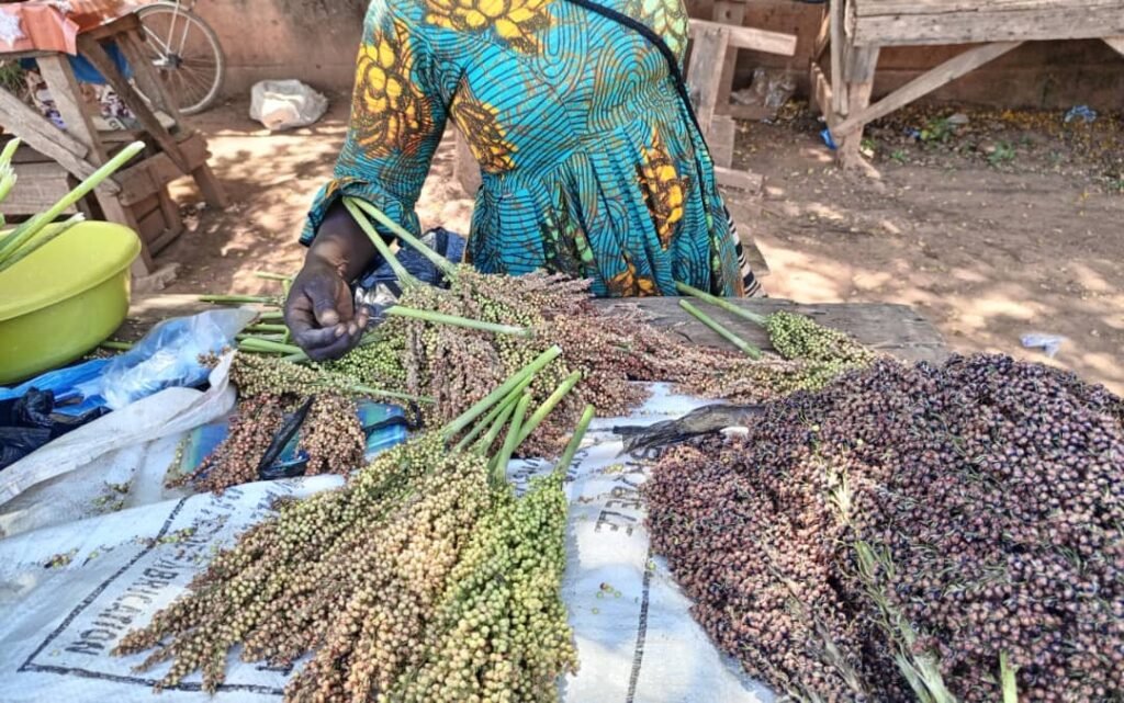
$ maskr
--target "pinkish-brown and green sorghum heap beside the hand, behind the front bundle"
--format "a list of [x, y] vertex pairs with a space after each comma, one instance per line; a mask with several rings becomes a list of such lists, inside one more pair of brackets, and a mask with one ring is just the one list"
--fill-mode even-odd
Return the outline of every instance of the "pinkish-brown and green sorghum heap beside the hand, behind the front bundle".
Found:
[[634, 308], [598, 310], [588, 282], [546, 274], [488, 275], [454, 266], [368, 203], [346, 204], [388, 261], [393, 256], [366, 216], [429, 256], [450, 287], [411, 284], [410, 274], [399, 270], [404, 293], [397, 307], [388, 310], [388, 320], [369, 344], [333, 369], [362, 383], [427, 396], [434, 401], [426, 408], [432, 419], [446, 422], [531, 358], [559, 346], [562, 355], [536, 377], [529, 389], [533, 398], [544, 399], [574, 373], [580, 378], [552, 420], [523, 445], [527, 451], [556, 453], [565, 429], [587, 403], [606, 414], [642, 403], [647, 391], [633, 381], [673, 382], [696, 394], [765, 400], [818, 387], [873, 358], [847, 337], [783, 312], [755, 319], [768, 327], [782, 359], [761, 359], [752, 349], [754, 358], [686, 345], [645, 323]]

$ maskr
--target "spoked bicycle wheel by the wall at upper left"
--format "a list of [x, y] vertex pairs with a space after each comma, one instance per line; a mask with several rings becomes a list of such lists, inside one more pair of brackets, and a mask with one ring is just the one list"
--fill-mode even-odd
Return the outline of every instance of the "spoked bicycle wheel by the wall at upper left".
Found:
[[198, 15], [172, 3], [137, 10], [145, 51], [183, 115], [197, 115], [218, 98], [226, 77], [226, 55], [218, 36]]

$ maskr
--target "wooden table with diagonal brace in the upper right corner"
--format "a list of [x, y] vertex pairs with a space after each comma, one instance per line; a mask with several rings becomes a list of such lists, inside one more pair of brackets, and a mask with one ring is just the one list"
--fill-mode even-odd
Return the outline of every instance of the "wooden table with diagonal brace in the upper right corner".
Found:
[[[1102, 39], [1124, 54], [1124, 0], [831, 0], [812, 64], [813, 97], [839, 158], [858, 163], [865, 125], [1025, 42]], [[885, 46], [979, 44], [871, 104]], [[831, 52], [830, 77], [819, 57]]]

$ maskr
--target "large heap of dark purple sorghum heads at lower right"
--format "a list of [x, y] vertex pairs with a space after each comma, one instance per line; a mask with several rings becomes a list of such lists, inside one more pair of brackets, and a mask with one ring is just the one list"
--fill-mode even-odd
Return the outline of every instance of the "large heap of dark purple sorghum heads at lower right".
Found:
[[1120, 409], [1007, 357], [879, 360], [667, 455], [653, 545], [797, 700], [1122, 701]]

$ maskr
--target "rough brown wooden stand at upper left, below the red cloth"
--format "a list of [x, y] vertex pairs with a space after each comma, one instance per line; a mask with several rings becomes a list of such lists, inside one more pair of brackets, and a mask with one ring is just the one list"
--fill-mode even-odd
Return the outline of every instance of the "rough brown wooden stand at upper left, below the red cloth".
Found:
[[[15, 94], [0, 91], [0, 122], [6, 133], [19, 137], [25, 145], [13, 159], [19, 185], [2, 203], [4, 213], [40, 211], [69, 191], [75, 180], [92, 174], [123, 143], [143, 140], [148, 148], [80, 204], [90, 217], [119, 222], [140, 236], [144, 246], [134, 264], [134, 273], [138, 275], [149, 273], [152, 256], [183, 231], [179, 209], [167, 194], [171, 181], [190, 174], [208, 204], [226, 206], [223, 189], [207, 163], [210, 155], [206, 140], [183, 125], [174, 100], [145, 55], [143, 40], [144, 31], [135, 15], [126, 15], [78, 37], [82, 56], [106, 79], [140, 124], [140, 129], [127, 131], [97, 130], [93, 110], [82, 99], [66, 54], [0, 53], [0, 58], [4, 60], [36, 60], [66, 127], [58, 129]], [[105, 42], [117, 44], [148, 100], [118, 71], [102, 46]], [[170, 128], [161, 122], [154, 109], [170, 118]]]

